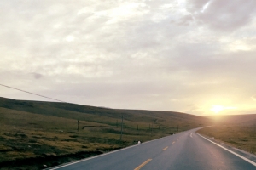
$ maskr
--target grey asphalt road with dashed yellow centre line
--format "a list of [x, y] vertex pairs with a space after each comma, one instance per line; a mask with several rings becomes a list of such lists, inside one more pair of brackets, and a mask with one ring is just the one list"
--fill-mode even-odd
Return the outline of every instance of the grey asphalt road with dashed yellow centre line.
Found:
[[59, 170], [165, 170], [255, 169], [243, 160], [195, 133], [192, 129], [52, 169]]

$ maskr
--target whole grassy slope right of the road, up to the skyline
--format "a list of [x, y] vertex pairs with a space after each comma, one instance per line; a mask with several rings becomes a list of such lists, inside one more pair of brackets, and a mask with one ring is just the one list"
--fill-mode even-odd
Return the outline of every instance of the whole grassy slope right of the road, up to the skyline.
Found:
[[256, 154], [256, 114], [206, 116], [216, 126], [198, 131], [202, 135]]

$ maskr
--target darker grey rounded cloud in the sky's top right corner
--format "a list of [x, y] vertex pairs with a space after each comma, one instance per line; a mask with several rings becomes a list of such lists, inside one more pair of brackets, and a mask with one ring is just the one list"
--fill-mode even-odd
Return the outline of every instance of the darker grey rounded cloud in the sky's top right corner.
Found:
[[194, 0], [187, 3], [188, 11], [196, 20], [220, 31], [235, 31], [246, 26], [252, 21], [256, 7], [256, 2], [251, 0]]

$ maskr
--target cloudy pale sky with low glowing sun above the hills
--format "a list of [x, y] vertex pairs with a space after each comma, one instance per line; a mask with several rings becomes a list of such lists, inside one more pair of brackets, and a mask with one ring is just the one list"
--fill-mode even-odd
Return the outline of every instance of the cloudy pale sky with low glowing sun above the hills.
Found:
[[[79, 105], [256, 113], [255, 0], [0, 2], [0, 84]], [[0, 86], [0, 96], [46, 100]]]

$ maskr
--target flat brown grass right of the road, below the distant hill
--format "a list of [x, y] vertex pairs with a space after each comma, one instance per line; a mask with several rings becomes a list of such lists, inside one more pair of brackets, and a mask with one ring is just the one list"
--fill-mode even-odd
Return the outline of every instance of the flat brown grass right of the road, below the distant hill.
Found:
[[254, 124], [224, 124], [202, 128], [197, 133], [246, 150], [256, 155], [256, 127]]

